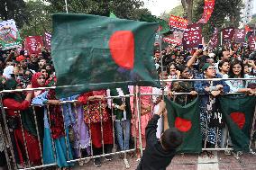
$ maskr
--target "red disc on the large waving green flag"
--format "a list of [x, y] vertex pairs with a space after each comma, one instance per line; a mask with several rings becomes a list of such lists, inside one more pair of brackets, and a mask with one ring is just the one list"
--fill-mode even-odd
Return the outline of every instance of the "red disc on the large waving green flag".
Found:
[[119, 66], [133, 69], [134, 65], [134, 36], [133, 31], [114, 31], [109, 40], [111, 57]]

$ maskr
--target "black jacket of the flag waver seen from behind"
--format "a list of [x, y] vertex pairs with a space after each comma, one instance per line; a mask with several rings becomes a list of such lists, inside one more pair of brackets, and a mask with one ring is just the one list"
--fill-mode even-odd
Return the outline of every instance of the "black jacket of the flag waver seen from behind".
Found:
[[165, 170], [171, 159], [175, 156], [175, 150], [164, 150], [156, 137], [157, 123], [160, 116], [155, 114], [146, 127], [146, 149], [137, 170]]

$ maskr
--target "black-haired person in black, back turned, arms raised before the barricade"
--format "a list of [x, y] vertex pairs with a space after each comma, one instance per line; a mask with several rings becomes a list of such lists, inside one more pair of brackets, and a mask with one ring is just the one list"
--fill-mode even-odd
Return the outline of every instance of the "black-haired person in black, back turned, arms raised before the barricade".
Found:
[[[165, 170], [176, 154], [176, 148], [182, 143], [182, 134], [175, 128], [169, 128], [166, 103], [160, 101], [159, 111], [154, 114], [146, 128], [146, 149], [137, 170]], [[156, 137], [157, 122], [164, 115], [164, 132], [160, 140]]]

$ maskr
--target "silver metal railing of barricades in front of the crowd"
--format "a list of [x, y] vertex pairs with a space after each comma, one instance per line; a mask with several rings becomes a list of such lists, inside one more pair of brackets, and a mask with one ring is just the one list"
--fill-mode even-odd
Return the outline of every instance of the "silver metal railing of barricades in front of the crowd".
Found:
[[[187, 79], [185, 79], [187, 80]], [[184, 81], [185, 81], [184, 80]], [[255, 78], [253, 79], [255, 80]], [[172, 81], [172, 80], [171, 80]], [[178, 79], [178, 81], [182, 81], [181, 79]], [[189, 80], [190, 81], [190, 80]], [[197, 81], [194, 79], [194, 81]], [[199, 80], [198, 80], [199, 81]], [[200, 79], [200, 81], [209, 81], [209, 79]], [[213, 79], [212, 81], [219, 81], [219, 79]], [[5, 93], [14, 93], [14, 92], [24, 92], [24, 91], [35, 91], [35, 90], [50, 90], [50, 89], [54, 89], [55, 87], [50, 87], [50, 88], [31, 88], [31, 89], [16, 89], [16, 90], [4, 90], [0, 93], [0, 103], [2, 105], [1, 107], [1, 111], [2, 111], [2, 117], [3, 117], [3, 127], [4, 129], [2, 128], [2, 126], [0, 127], [0, 133], [2, 136], [5, 136], [5, 157], [7, 159], [7, 166], [9, 169], [36, 169], [36, 168], [41, 168], [41, 167], [48, 167], [48, 166], [58, 166], [58, 163], [57, 163], [57, 154], [56, 154], [56, 148], [54, 147], [55, 144], [54, 144], [54, 141], [52, 139], [52, 133], [51, 134], [51, 145], [52, 145], [52, 151], [53, 151], [53, 154], [54, 154], [54, 163], [51, 163], [51, 164], [44, 164], [43, 163], [43, 144], [41, 144], [41, 137], [40, 137], [40, 132], [39, 132], [39, 123], [37, 122], [37, 112], [36, 112], [36, 107], [39, 107], [37, 105], [31, 105], [32, 107], [32, 113], [33, 113], [33, 116], [34, 116], [34, 121], [35, 121], [35, 125], [36, 125], [36, 132], [37, 132], [37, 140], [39, 142], [39, 148], [40, 148], [40, 155], [41, 155], [41, 165], [32, 165], [32, 163], [30, 162], [30, 157], [29, 157], [29, 153], [28, 153], [28, 146], [27, 146], [27, 142], [26, 142], [26, 139], [25, 139], [25, 132], [24, 132], [24, 129], [23, 129], [23, 122], [21, 122], [21, 130], [22, 130], [22, 136], [23, 136], [23, 147], [25, 148], [25, 159], [27, 159], [27, 164], [25, 165], [19, 165], [19, 162], [18, 160], [16, 160], [16, 153], [17, 152], [15, 150], [15, 144], [14, 144], [14, 137], [12, 135], [13, 131], [12, 129], [10, 129], [8, 127], [8, 124], [7, 124], [7, 113], [6, 111], [9, 109], [9, 108], [6, 108], [4, 107], [4, 104], [3, 104], [3, 94]], [[140, 87], [139, 87], [140, 88]], [[174, 93], [173, 95], [189, 95], [190, 93]], [[241, 93], [230, 93], [230, 94], [241, 94]], [[64, 130], [65, 132], [65, 135], [64, 135], [64, 138], [65, 138], [65, 147], [66, 147], [66, 157], [67, 157], [67, 160], [66, 162], [67, 163], [75, 163], [75, 162], [81, 162], [81, 161], [84, 161], [86, 159], [94, 159], [94, 158], [97, 158], [97, 157], [107, 157], [107, 156], [115, 156], [115, 155], [118, 155], [118, 154], [124, 154], [124, 159], [126, 158], [126, 153], [128, 152], [134, 152], [136, 151], [137, 149], [140, 150], [140, 153], [142, 155], [142, 124], [141, 124], [141, 120], [142, 120], [142, 96], [143, 95], [150, 95], [151, 97], [148, 98], [147, 100], [150, 100], [149, 102], [151, 103], [151, 112], [152, 112], [152, 108], [153, 108], [153, 103], [152, 103], [152, 96], [153, 95], [162, 95], [162, 94], [153, 94], [153, 93], [141, 93], [141, 90], [138, 90], [136, 91], [136, 89], [134, 88], [133, 89], [133, 94], [127, 94], [127, 95], [118, 95], [118, 96], [107, 96], [105, 97], [105, 100], [110, 100], [111, 101], [111, 105], [113, 103], [113, 99], [116, 99], [116, 98], [120, 98], [120, 99], [123, 99], [123, 98], [130, 98], [130, 97], [133, 97], [133, 108], [131, 108], [132, 112], [133, 112], [133, 119], [134, 119], [134, 122], [137, 122], [138, 123], [138, 131], [135, 130], [135, 135], [133, 136], [133, 143], [134, 143], [134, 147], [133, 148], [129, 148], [128, 150], [120, 150], [120, 151], [117, 151], [116, 147], [115, 147], [115, 143], [118, 143], [115, 141], [115, 127], [114, 127], [114, 108], [111, 107], [110, 110], [110, 118], [111, 118], [111, 123], [112, 123], [112, 134], [113, 134], [113, 150], [111, 153], [105, 153], [105, 148], [104, 148], [104, 130], [103, 130], [103, 118], [102, 118], [102, 103], [99, 102], [99, 109], [100, 109], [100, 112], [101, 112], [101, 121], [100, 121], [100, 133], [101, 133], [101, 144], [103, 146], [102, 148], [102, 154], [99, 154], [99, 155], [94, 155], [94, 149], [93, 149], [93, 141], [91, 139], [91, 123], [88, 123], [86, 124], [87, 125], [87, 128], [89, 130], [89, 136], [88, 138], [89, 141], [90, 141], [90, 148], [89, 148], [89, 152], [91, 155], [88, 155], [87, 157], [82, 157], [82, 149], [84, 148], [81, 148], [81, 143], [80, 143], [80, 132], [78, 132], [78, 105], [79, 107], [82, 107], [80, 106], [80, 103], [78, 103], [78, 100], [72, 100], [72, 101], [62, 101], [60, 102], [60, 110], [61, 110], [61, 114], [62, 114], [62, 118], [63, 119], [63, 126], [65, 128], [65, 114], [64, 114], [64, 110], [63, 110], [63, 106], [65, 106], [65, 104], [70, 104], [73, 109], [74, 109], [74, 116], [76, 118], [76, 122], [72, 125], [73, 129], [77, 130], [75, 131], [78, 136], [76, 137], [76, 140], [78, 142], [78, 148], [75, 148], [77, 149], [78, 151], [78, 156], [80, 157], [76, 157], [76, 158], [71, 158], [69, 157], [69, 136], [66, 134], [66, 130]], [[165, 95], [168, 95], [168, 94], [165, 94]], [[89, 103], [87, 103], [87, 105], [89, 105]], [[44, 105], [42, 106], [44, 107], [45, 111], [47, 112], [47, 119], [49, 121], [49, 125], [50, 125], [50, 109], [49, 109], [49, 105]], [[138, 111], [138, 112], [135, 112]], [[19, 115], [19, 120], [22, 121], [21, 119], [21, 114], [19, 113], [20, 111], [17, 111], [18, 112], [18, 115]], [[84, 112], [81, 112], [81, 114], [84, 114]], [[60, 119], [60, 118], [59, 118]], [[253, 117], [253, 122], [252, 122], [252, 127], [254, 127], [254, 124], [255, 124], [255, 112], [254, 112], [254, 117]], [[83, 121], [83, 123], [85, 123]], [[132, 125], [134, 126], [134, 125]], [[135, 125], [136, 127], [136, 125]], [[67, 127], [66, 127], [67, 128]], [[123, 129], [125, 127], [123, 126]], [[131, 129], [130, 129], [131, 130]], [[51, 131], [50, 131], [51, 132]], [[207, 132], [207, 128], [206, 128], [206, 132]], [[218, 129], [217, 129], [217, 133], [218, 133]], [[251, 139], [252, 139], [252, 135], [254, 133], [254, 130], [251, 130]], [[123, 141], [125, 141], [125, 133], [124, 134], [124, 137], [123, 137]], [[199, 134], [198, 134], [199, 135]], [[207, 134], [206, 134], [207, 136]], [[218, 138], [218, 135], [216, 135], [216, 138]], [[139, 139], [137, 141], [137, 139]], [[218, 139], [216, 139], [217, 141]], [[137, 143], [139, 143], [139, 147], [137, 146]], [[215, 148], [206, 148], [206, 139], [205, 139], [205, 145], [204, 147], [202, 148], [203, 150], [217, 150], [217, 151], [221, 151], [221, 150], [232, 150], [233, 148], [228, 148], [229, 144], [229, 135], [227, 134], [227, 137], [226, 137], [226, 141], [224, 142], [224, 147], [223, 148], [220, 148], [219, 144], [215, 144]], [[124, 146], [125, 146], [125, 143], [124, 143]], [[250, 147], [251, 147], [251, 143], [250, 143]], [[74, 148], [73, 148], [74, 149]], [[125, 166], [128, 168], [130, 165], [127, 161], [127, 159], [124, 161], [124, 164]], [[19, 166], [18, 166], [19, 165]]]

